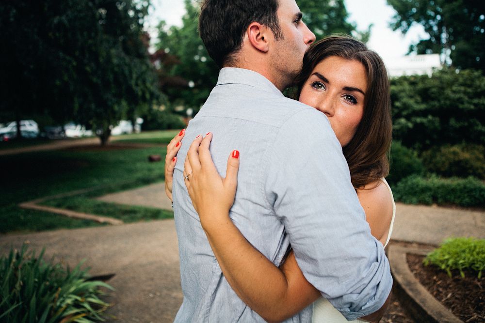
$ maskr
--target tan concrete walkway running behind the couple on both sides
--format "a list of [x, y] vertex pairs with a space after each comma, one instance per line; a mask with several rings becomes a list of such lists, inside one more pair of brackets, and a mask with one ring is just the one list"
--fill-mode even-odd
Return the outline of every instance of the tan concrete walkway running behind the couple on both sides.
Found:
[[[110, 194], [100, 200], [169, 209], [163, 183]], [[397, 204], [393, 240], [439, 244], [451, 236], [485, 238], [485, 210], [467, 211]], [[0, 254], [29, 241], [33, 249], [61, 257], [71, 266], [82, 259], [94, 276], [115, 274], [109, 310], [112, 322], [172, 322], [182, 302], [178, 242], [173, 220], [76, 230], [0, 235]]]

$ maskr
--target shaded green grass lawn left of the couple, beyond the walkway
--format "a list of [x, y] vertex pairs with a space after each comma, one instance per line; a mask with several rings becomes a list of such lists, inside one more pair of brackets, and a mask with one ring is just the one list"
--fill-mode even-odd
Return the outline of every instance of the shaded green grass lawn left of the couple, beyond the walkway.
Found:
[[[164, 138], [162, 134], [157, 136]], [[95, 196], [162, 181], [163, 161], [149, 163], [148, 155], [163, 156], [165, 151], [163, 147], [106, 150], [95, 146], [0, 156], [0, 233], [99, 226], [92, 221], [17, 206], [23, 201], [90, 187], [97, 189], [45, 204], [113, 216], [125, 222], [172, 217], [170, 211], [93, 200]]]

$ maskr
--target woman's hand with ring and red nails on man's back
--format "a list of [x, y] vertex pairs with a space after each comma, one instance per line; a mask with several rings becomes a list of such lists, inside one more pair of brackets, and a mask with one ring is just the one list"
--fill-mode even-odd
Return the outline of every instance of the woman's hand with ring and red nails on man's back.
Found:
[[219, 175], [209, 147], [212, 133], [197, 136], [192, 142], [184, 164], [185, 185], [197, 211], [202, 227], [210, 230], [220, 221], [229, 219], [234, 204], [239, 170], [239, 152], [234, 150], [227, 160], [226, 178]]

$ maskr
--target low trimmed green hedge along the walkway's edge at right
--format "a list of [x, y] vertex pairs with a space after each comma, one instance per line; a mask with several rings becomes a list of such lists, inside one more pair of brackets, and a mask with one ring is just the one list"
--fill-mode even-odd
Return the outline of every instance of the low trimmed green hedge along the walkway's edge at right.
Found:
[[473, 177], [422, 178], [412, 175], [393, 186], [394, 199], [406, 204], [485, 206], [485, 184]]

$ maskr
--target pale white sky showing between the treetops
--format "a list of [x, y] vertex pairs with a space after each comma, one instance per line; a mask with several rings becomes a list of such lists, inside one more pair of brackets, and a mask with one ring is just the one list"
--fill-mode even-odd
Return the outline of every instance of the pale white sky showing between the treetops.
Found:
[[[298, 3], [298, 0], [296, 0]], [[154, 10], [150, 14], [149, 25], [156, 26], [160, 20], [170, 25], [180, 25], [180, 17], [185, 14], [183, 0], [152, 0]], [[350, 14], [349, 21], [356, 22], [358, 30], [366, 30], [372, 23], [371, 39], [368, 46], [379, 53], [384, 61], [404, 56], [409, 45], [426, 33], [416, 25], [403, 36], [400, 31], [392, 31], [388, 25], [394, 9], [386, 0], [345, 0]]]

